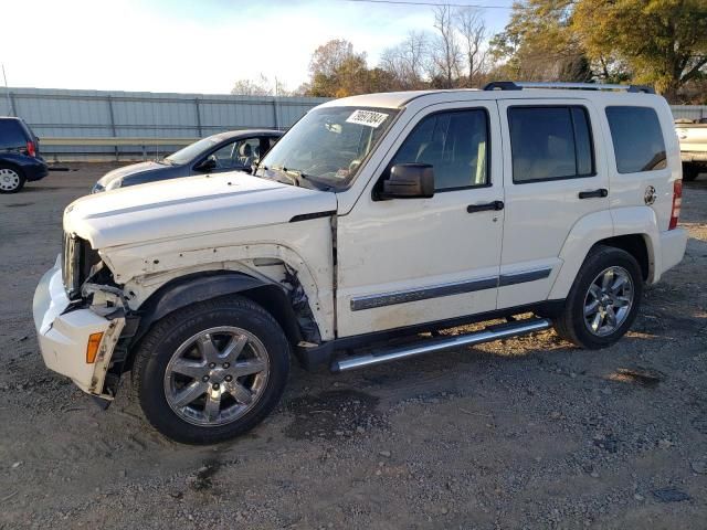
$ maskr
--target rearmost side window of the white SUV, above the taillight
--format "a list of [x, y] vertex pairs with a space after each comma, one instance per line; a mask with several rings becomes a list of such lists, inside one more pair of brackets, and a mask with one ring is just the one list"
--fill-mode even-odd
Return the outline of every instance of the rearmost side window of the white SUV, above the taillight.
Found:
[[606, 107], [606, 119], [620, 173], [667, 167], [661, 123], [650, 107]]

